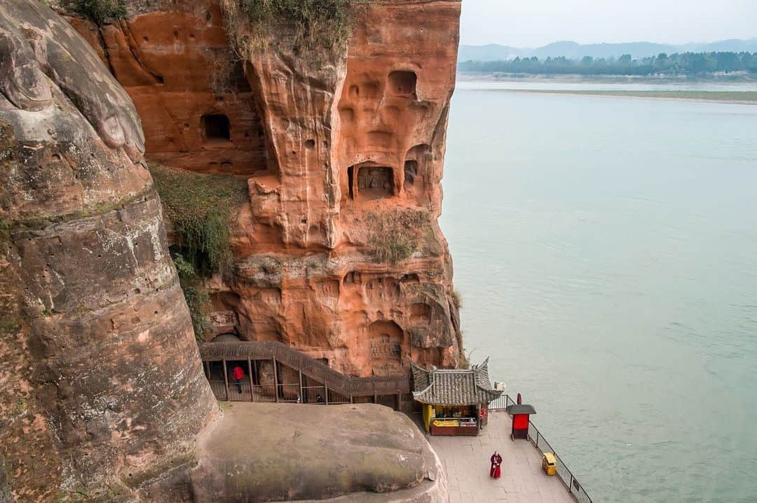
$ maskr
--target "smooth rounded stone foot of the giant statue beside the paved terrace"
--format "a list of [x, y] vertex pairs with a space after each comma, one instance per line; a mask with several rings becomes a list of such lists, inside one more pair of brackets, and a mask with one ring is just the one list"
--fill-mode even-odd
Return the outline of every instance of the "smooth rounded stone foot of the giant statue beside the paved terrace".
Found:
[[223, 408], [198, 448], [197, 501], [447, 501], [435, 452], [406, 415], [388, 407]]

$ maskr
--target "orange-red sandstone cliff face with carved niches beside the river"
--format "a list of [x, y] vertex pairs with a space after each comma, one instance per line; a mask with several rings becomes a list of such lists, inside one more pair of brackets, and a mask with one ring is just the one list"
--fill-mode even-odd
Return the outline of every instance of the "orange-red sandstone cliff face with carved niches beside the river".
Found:
[[230, 59], [215, 2], [71, 20], [132, 96], [148, 159], [248, 178], [235, 270], [212, 282], [214, 318], [241, 338], [355, 375], [459, 363], [437, 224], [459, 8], [372, 2], [315, 63], [285, 43]]

